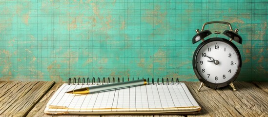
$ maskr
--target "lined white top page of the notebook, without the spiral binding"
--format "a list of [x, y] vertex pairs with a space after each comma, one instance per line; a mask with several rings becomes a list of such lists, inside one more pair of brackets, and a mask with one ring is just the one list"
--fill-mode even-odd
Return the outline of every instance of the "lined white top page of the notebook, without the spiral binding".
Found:
[[[181, 107], [199, 107], [184, 83], [150, 84], [87, 95], [65, 93], [95, 85], [101, 85], [101, 83], [63, 84], [47, 103], [45, 112], [166, 111]], [[58, 108], [49, 108], [51, 106]]]

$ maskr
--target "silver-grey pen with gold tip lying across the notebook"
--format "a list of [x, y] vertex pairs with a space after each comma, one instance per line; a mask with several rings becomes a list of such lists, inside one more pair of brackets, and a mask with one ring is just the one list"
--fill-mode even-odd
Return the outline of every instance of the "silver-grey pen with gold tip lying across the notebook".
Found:
[[116, 88], [124, 88], [130, 86], [138, 86], [138, 85], [145, 85], [147, 83], [146, 79], [138, 79], [133, 81], [126, 81], [126, 82], [119, 82], [119, 83], [112, 83], [112, 84], [105, 84], [105, 85], [98, 85], [92, 87], [85, 87], [81, 89], [75, 89], [72, 91], [68, 91], [65, 93], [69, 94], [91, 94], [99, 91], [116, 89]]

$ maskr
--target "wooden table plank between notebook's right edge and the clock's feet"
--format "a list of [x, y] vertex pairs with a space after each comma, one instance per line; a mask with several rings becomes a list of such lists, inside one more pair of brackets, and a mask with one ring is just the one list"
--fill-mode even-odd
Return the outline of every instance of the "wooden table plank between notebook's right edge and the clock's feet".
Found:
[[216, 90], [203, 87], [198, 92], [200, 82], [185, 82], [193, 97], [202, 107], [201, 114], [188, 117], [242, 117], [234, 107], [229, 107]]

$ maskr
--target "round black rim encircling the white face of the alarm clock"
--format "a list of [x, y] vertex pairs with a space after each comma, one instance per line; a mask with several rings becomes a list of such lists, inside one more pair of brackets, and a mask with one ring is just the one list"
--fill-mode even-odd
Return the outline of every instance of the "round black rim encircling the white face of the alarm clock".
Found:
[[[235, 75], [232, 78], [230, 78], [229, 80], [227, 80], [226, 82], [223, 82], [223, 83], [212, 83], [212, 82], [208, 82], [206, 79], [202, 78], [202, 76], [199, 74], [199, 72], [197, 70], [197, 67], [196, 67], [196, 57], [197, 57], [198, 52], [200, 51], [200, 49], [204, 45], [206, 45], [207, 43], [212, 42], [212, 41], [222, 41], [222, 42], [227, 43], [228, 45], [230, 45], [235, 50], [235, 52], [237, 53], [237, 55], [239, 57], [238, 58], [239, 59], [238, 69], [237, 69]], [[210, 38], [210, 39], [206, 39], [205, 41], [203, 41], [202, 43], [200, 43], [198, 45], [198, 47], [196, 48], [196, 50], [194, 51], [194, 55], [193, 55], [193, 70], [194, 70], [194, 73], [197, 76], [197, 78], [199, 79], [199, 81], [203, 82], [206, 87], [209, 87], [211, 89], [219, 89], [219, 88], [223, 88], [223, 87], [228, 86], [230, 83], [232, 83], [238, 77], [238, 75], [240, 73], [240, 70], [241, 70], [241, 67], [242, 67], [242, 60], [241, 60], [240, 52], [239, 52], [238, 48], [235, 46], [235, 44], [233, 44], [231, 41], [229, 41], [227, 39], [224, 39], [224, 38]]]

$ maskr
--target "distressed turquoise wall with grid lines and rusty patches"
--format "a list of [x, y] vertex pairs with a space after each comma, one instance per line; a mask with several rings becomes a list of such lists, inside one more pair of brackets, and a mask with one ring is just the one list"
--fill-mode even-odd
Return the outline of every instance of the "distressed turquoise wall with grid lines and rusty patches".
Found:
[[107, 1], [1, 0], [0, 80], [197, 81], [192, 55], [199, 43], [191, 39], [205, 22], [221, 20], [243, 38], [242, 45], [235, 43], [243, 58], [237, 80], [268, 81], [266, 0]]

